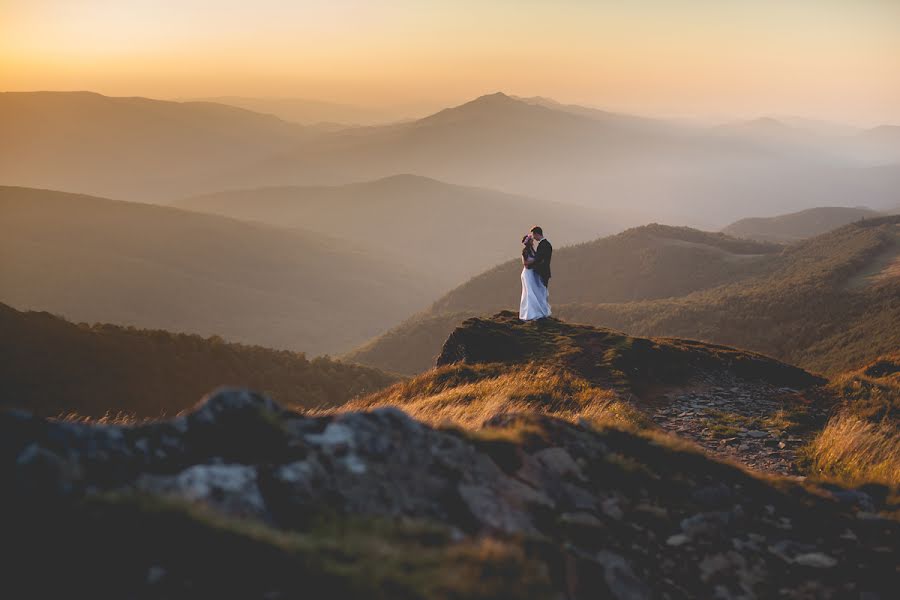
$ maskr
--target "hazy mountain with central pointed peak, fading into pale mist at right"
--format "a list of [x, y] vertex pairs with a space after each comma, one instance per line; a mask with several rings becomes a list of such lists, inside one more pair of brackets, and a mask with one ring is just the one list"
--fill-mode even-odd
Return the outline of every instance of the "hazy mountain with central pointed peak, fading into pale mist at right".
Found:
[[863, 193], [877, 208], [893, 202], [893, 189], [871, 182], [857, 159], [836, 154], [831, 143], [785, 147], [741, 131], [575, 111], [502, 93], [411, 123], [301, 143], [231, 181], [249, 187], [398, 172], [616, 210], [632, 223], [722, 227], [749, 204], [799, 210]]

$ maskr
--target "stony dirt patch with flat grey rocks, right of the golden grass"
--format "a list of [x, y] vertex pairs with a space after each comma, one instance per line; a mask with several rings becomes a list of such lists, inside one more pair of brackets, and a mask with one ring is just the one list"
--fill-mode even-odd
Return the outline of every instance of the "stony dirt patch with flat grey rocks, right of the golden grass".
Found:
[[650, 414], [713, 454], [784, 475], [798, 474], [798, 449], [827, 418], [795, 390], [737, 381], [670, 392]]

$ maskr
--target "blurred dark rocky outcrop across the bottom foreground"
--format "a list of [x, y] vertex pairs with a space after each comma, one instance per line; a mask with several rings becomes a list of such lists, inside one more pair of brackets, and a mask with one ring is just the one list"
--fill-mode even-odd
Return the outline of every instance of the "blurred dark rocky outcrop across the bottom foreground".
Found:
[[[528, 571], [536, 578], [528, 584], [533, 597], [888, 598], [900, 583], [900, 525], [886, 516], [898, 507], [879, 488], [807, 489], [759, 479], [655, 438], [536, 415], [499, 415], [464, 432], [425, 426], [393, 408], [304, 416], [263, 395], [225, 389], [182, 417], [131, 427], [7, 413], [0, 452], [3, 519], [13, 532], [3, 543], [14, 569], [33, 558], [21, 548], [33, 543], [27, 532], [44, 516], [68, 514], [66, 507], [90, 498], [138, 494], [199, 503], [284, 532], [315, 531], [327, 517], [346, 536], [365, 518], [430, 523], [444, 533], [429, 547], [495, 539], [535, 561]], [[92, 527], [95, 541], [106, 539]], [[71, 544], [45, 529], [42, 546]], [[246, 543], [239, 542], [224, 536], [217, 544], [234, 544], [237, 553]], [[174, 538], [147, 553], [133, 540], [121, 551], [135, 564], [116, 576], [117, 592], [182, 597], [151, 585], [167, 573], [191, 572], [185, 565], [196, 559], [185, 558], [182, 543]], [[282, 554], [296, 552], [278, 544]], [[93, 564], [88, 547], [85, 540], [84, 555], [69, 560], [103, 581], [104, 566]], [[267, 552], [259, 555], [265, 562], [243, 567], [270, 573], [282, 554]], [[452, 569], [461, 555], [451, 552], [446, 556], [457, 559], [434, 568]], [[376, 577], [353, 564], [342, 569], [345, 577]], [[516, 597], [523, 575], [505, 569], [467, 577], [507, 577], [508, 587], [497, 588], [507, 594], [478, 593]], [[205, 589], [207, 571], [194, 573], [181, 575], [184, 597], [184, 590]], [[272, 577], [257, 597], [285, 597]], [[404, 585], [396, 596], [442, 597], [424, 584]]]

